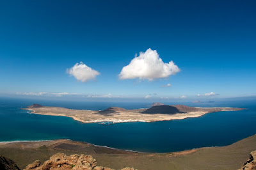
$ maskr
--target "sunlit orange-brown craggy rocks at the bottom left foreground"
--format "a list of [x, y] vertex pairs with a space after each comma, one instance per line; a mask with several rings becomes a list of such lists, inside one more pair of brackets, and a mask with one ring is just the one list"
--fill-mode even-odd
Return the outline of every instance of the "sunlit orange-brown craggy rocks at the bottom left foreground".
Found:
[[[74, 169], [74, 170], [113, 170], [109, 167], [97, 166], [96, 160], [92, 155], [70, 155], [67, 156], [64, 153], [57, 153], [52, 155], [49, 160], [46, 160], [44, 164], [41, 164], [39, 160], [36, 160], [32, 164], [26, 167], [26, 170], [47, 170], [47, 169]], [[135, 170], [134, 168], [125, 167], [122, 170]]]

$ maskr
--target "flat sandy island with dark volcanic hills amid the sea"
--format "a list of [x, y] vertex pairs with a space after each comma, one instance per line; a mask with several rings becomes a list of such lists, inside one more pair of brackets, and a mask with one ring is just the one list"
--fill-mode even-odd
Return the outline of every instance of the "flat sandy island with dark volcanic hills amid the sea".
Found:
[[153, 122], [167, 120], [182, 120], [196, 118], [209, 112], [240, 111], [243, 108], [236, 107], [188, 107], [186, 105], [153, 104], [148, 109], [127, 110], [121, 107], [109, 107], [103, 111], [88, 111], [67, 109], [63, 107], [47, 107], [33, 104], [24, 110], [32, 111], [33, 114], [52, 116], [66, 116], [83, 123], [122, 123], [122, 122]]

